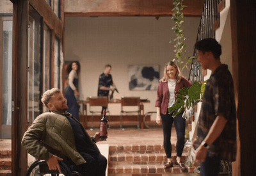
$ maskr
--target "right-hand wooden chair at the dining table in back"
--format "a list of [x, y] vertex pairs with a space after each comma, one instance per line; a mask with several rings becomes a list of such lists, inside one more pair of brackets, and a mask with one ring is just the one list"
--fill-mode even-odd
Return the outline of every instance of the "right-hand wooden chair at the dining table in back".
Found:
[[[137, 108], [136, 110], [127, 109], [129, 107]], [[125, 114], [136, 113], [138, 119], [137, 127], [140, 128], [140, 116], [141, 116], [141, 106], [140, 106], [140, 97], [122, 97], [121, 99], [121, 115], [120, 115], [120, 128], [123, 128], [123, 120], [122, 117]]]

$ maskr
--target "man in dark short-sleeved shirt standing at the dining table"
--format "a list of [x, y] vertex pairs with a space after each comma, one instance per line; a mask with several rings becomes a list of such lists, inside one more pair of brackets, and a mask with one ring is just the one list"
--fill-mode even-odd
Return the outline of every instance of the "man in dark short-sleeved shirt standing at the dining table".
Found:
[[[98, 85], [98, 97], [108, 97], [109, 91], [112, 92], [116, 90], [116, 86], [113, 83], [113, 78], [110, 74], [112, 70], [111, 65], [105, 65], [104, 72], [99, 76], [99, 85]], [[108, 107], [102, 107], [102, 112]]]

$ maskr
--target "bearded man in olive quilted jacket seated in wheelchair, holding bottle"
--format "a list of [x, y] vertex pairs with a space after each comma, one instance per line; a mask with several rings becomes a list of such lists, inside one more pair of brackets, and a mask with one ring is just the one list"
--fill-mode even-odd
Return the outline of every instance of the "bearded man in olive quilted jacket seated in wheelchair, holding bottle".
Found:
[[41, 100], [51, 112], [35, 119], [22, 138], [22, 146], [36, 159], [47, 161], [49, 170], [61, 173], [58, 161], [64, 161], [81, 175], [105, 175], [108, 161], [95, 145], [101, 141], [99, 132], [91, 138], [83, 125], [66, 112], [67, 99], [58, 88], [47, 90]]

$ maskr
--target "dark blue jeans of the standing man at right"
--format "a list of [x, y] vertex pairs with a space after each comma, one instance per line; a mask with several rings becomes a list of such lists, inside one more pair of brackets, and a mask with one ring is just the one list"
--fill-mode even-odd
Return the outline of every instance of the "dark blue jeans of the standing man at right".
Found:
[[220, 172], [220, 157], [207, 157], [200, 166], [200, 175], [201, 176], [218, 176]]

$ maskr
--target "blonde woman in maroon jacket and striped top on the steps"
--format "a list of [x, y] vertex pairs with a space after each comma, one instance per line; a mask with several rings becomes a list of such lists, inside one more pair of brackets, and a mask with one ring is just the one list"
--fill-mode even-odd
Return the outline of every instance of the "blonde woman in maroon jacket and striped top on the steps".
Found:
[[160, 83], [157, 88], [157, 100], [156, 100], [156, 123], [158, 125], [163, 125], [163, 134], [164, 134], [164, 150], [167, 157], [167, 163], [164, 164], [164, 168], [172, 168], [172, 144], [171, 144], [171, 135], [172, 135], [172, 124], [174, 122], [175, 129], [177, 132], [177, 159], [175, 164], [179, 165], [181, 170], [185, 170], [186, 167], [181, 161], [181, 156], [185, 143], [185, 126], [186, 120], [182, 118], [182, 113], [180, 113], [175, 118], [172, 114], [169, 114], [168, 108], [172, 107], [175, 103], [177, 93], [183, 87], [190, 87], [192, 84], [180, 75], [179, 67], [173, 62], [170, 61], [164, 67], [164, 77], [160, 80]]

